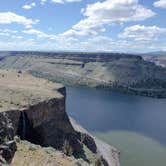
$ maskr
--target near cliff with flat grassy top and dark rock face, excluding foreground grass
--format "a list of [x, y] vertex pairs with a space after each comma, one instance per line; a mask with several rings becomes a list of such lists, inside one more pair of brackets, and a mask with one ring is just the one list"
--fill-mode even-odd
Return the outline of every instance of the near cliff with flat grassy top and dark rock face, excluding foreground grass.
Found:
[[[18, 135], [23, 140], [82, 158], [86, 163], [108, 165], [98, 153], [94, 139], [76, 131], [70, 123], [62, 85], [20, 72], [1, 70], [0, 76], [1, 162], [11, 162], [16, 151], [13, 137]], [[97, 156], [100, 158], [96, 159]]]

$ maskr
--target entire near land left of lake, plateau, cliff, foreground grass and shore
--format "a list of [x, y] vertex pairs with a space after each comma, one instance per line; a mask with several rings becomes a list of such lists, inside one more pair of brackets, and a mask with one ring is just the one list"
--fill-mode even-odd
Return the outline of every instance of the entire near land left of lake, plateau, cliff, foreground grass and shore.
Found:
[[0, 91], [0, 165], [120, 165], [115, 148], [71, 123], [61, 84], [0, 70]]

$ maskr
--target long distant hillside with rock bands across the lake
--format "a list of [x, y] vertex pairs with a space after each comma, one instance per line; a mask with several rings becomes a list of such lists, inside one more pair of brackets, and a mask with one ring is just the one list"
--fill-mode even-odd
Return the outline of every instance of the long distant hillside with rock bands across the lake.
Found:
[[166, 97], [166, 69], [141, 56], [118, 53], [3, 52], [0, 68], [26, 70], [66, 85], [109, 87]]

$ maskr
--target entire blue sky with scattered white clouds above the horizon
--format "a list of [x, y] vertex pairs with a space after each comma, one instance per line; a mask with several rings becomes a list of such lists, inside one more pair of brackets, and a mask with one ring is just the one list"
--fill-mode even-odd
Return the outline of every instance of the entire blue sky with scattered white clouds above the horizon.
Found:
[[166, 50], [166, 0], [0, 1], [0, 50]]

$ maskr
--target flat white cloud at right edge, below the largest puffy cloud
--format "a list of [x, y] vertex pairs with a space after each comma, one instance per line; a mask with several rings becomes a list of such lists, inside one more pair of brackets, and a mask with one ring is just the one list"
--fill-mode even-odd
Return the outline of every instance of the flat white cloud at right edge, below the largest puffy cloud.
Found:
[[119, 34], [120, 38], [134, 39], [135, 41], [150, 41], [155, 40], [161, 34], [166, 34], [166, 28], [157, 26], [134, 25], [124, 29], [124, 32]]

